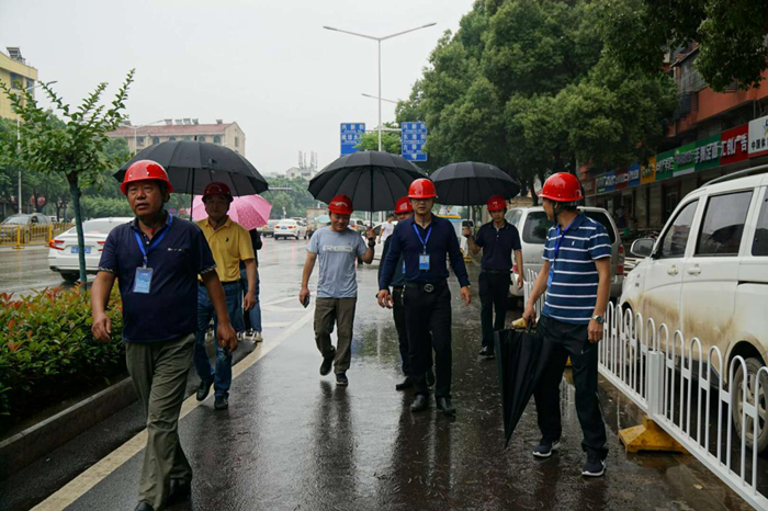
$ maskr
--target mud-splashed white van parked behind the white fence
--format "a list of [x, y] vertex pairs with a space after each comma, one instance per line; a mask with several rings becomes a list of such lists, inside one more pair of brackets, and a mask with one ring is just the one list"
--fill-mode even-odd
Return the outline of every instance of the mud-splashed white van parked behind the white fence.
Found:
[[[622, 309], [666, 323], [670, 334], [680, 330], [688, 342], [698, 338], [704, 357], [718, 347], [723, 367], [743, 356], [754, 382], [768, 360], [768, 166], [724, 175], [689, 193], [657, 240], [639, 239], [630, 251], [645, 259], [626, 276]], [[698, 355], [693, 350], [693, 359]], [[733, 402], [742, 402], [743, 373], [739, 364], [734, 381], [742, 385]], [[765, 372], [760, 386], [759, 408], [765, 410]], [[755, 391], [752, 383], [747, 388]], [[741, 432], [741, 405], [733, 407], [732, 417]], [[753, 425], [746, 430], [753, 445]], [[758, 424], [757, 436], [758, 451], [768, 451], [766, 421]]]

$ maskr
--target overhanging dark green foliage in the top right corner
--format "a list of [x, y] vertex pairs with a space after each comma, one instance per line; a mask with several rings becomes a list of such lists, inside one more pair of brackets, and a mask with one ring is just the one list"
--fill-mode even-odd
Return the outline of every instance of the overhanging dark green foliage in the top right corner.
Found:
[[757, 0], [603, 0], [599, 31], [625, 69], [660, 72], [669, 48], [696, 42], [696, 67], [723, 91], [759, 87], [768, 68], [768, 9]]

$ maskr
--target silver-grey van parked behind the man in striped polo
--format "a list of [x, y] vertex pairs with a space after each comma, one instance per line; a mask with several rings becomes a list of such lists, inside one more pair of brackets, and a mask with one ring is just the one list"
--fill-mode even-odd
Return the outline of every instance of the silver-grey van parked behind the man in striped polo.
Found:
[[[584, 212], [589, 218], [602, 224], [608, 231], [608, 236], [611, 239], [611, 297], [618, 298], [621, 296], [621, 288], [624, 283], [624, 247], [621, 245], [619, 229], [617, 229], [611, 215], [601, 207], [581, 206], [579, 211]], [[507, 212], [505, 218], [517, 227], [520, 232], [523, 270], [532, 270], [539, 273], [542, 266], [546, 232], [552, 227], [552, 222], [546, 218], [544, 208], [542, 206], [515, 207]], [[517, 280], [518, 268], [515, 264], [509, 296], [522, 298], [523, 289], [518, 288]]]

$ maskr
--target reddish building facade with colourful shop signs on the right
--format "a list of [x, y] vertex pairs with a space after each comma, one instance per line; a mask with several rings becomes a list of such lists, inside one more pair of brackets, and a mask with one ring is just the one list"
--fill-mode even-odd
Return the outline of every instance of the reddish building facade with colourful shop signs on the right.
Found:
[[607, 172], [581, 169], [586, 204], [608, 209], [622, 230], [660, 229], [688, 193], [768, 163], [768, 88], [714, 92], [693, 67], [697, 55], [696, 45], [671, 55], [680, 100], [656, 156]]

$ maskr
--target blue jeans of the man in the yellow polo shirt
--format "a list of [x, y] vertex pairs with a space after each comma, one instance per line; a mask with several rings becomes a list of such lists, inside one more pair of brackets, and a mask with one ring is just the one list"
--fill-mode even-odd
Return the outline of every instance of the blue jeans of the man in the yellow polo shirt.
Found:
[[[241, 330], [242, 326], [242, 293], [240, 292], [239, 282], [224, 284], [224, 296], [227, 300], [227, 311], [229, 320], [235, 331]], [[210, 381], [213, 378], [213, 388], [216, 396], [229, 396], [229, 387], [231, 387], [231, 353], [229, 350], [224, 350], [216, 345], [216, 370], [211, 366], [208, 353], [205, 351], [205, 332], [208, 329], [208, 323], [213, 318], [214, 332], [218, 327], [216, 310], [213, 308], [213, 303], [208, 297], [208, 292], [203, 286], [197, 286], [197, 332], [194, 342], [194, 368], [197, 371], [197, 376], [201, 379]], [[215, 334], [215, 333], [214, 333]]]

